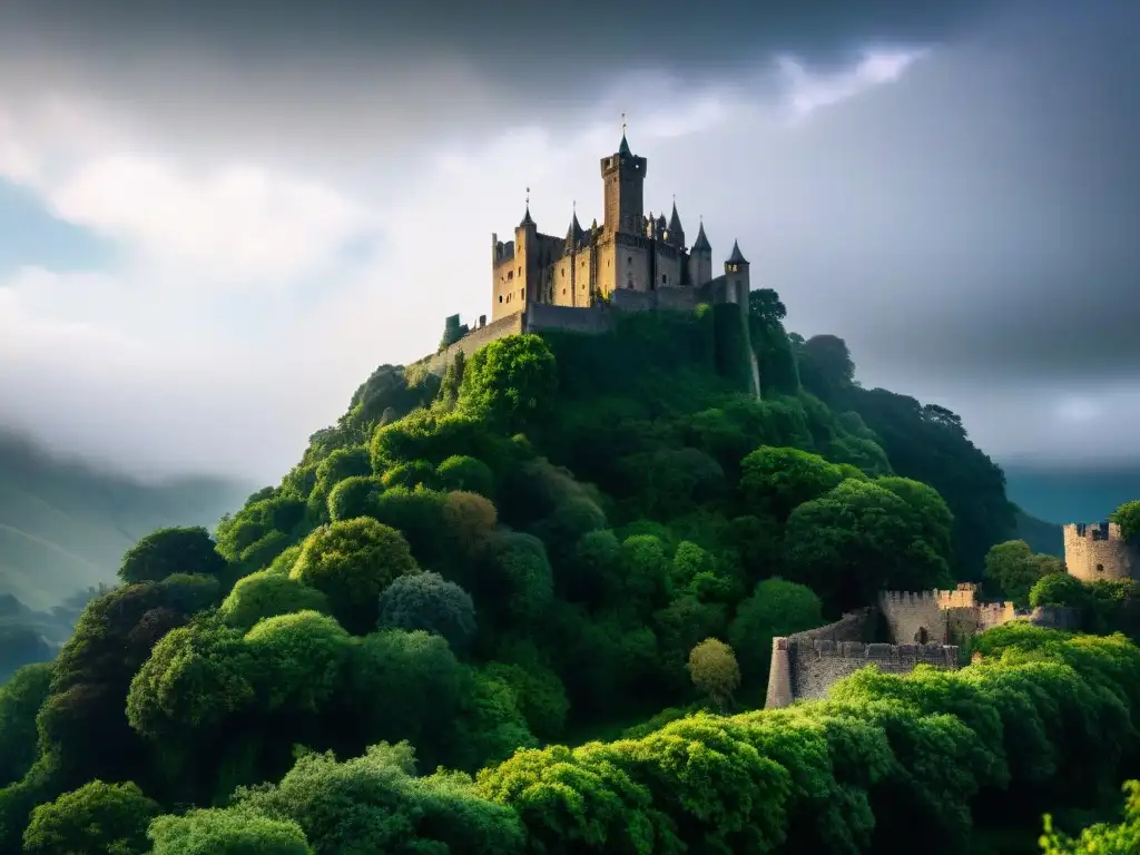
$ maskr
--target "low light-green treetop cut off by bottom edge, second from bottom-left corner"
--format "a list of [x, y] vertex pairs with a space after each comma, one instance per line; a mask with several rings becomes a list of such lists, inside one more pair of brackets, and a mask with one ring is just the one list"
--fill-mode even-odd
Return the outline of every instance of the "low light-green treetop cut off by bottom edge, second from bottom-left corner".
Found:
[[314, 855], [295, 822], [234, 808], [160, 816], [148, 834], [152, 855]]

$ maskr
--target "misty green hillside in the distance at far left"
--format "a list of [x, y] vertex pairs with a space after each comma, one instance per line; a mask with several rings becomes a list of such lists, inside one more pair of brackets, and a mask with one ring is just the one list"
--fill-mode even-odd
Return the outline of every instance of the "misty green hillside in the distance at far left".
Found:
[[209, 477], [142, 483], [0, 429], [0, 595], [48, 609], [112, 581], [144, 535], [164, 526], [212, 529], [253, 489]]

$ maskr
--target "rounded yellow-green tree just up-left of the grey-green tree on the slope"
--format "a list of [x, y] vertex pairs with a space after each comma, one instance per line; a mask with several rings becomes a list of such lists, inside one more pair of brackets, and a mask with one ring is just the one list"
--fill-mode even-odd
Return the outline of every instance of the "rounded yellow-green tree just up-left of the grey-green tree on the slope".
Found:
[[363, 516], [309, 535], [290, 577], [324, 592], [345, 629], [366, 633], [376, 626], [381, 592], [399, 577], [417, 572], [404, 536]]

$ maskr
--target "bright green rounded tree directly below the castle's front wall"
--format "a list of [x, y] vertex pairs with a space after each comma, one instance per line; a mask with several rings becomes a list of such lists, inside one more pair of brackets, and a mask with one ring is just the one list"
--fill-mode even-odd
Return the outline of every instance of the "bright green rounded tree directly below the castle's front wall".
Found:
[[546, 342], [537, 335], [508, 335], [467, 361], [459, 405], [513, 432], [549, 410], [556, 388], [554, 355]]

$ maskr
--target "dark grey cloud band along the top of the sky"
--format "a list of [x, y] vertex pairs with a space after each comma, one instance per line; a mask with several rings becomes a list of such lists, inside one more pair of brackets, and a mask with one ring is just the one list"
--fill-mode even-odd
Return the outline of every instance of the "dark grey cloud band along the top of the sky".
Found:
[[335, 128], [341, 156], [363, 163], [424, 136], [578, 123], [611, 95], [643, 98], [644, 84], [621, 89], [632, 72], [695, 87], [775, 52], [826, 66], [868, 43], [952, 40], [1019, 2], [5, 0], [0, 79], [145, 105], [199, 145], [239, 128], [250, 152], [310, 162], [304, 144]]

